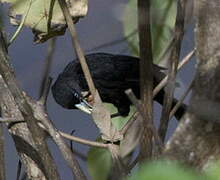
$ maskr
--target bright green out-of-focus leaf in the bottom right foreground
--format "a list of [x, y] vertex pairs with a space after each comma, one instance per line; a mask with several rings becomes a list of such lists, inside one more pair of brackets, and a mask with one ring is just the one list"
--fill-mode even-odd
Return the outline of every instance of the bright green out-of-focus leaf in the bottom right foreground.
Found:
[[[145, 163], [135, 172], [129, 180], [205, 180], [189, 169], [180, 167], [176, 163], [158, 161]], [[207, 179], [206, 179], [207, 180]]]

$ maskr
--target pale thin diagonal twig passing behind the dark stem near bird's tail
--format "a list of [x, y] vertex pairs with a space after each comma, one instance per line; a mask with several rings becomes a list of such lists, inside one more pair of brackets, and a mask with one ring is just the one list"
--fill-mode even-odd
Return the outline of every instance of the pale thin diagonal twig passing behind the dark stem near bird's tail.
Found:
[[[186, 63], [188, 63], [191, 58], [195, 55], [195, 49], [189, 52], [182, 61], [180, 61], [177, 70], [179, 71]], [[163, 80], [154, 88], [153, 97], [157, 95], [157, 93], [166, 86], [168, 80], [168, 75], [163, 78]]]

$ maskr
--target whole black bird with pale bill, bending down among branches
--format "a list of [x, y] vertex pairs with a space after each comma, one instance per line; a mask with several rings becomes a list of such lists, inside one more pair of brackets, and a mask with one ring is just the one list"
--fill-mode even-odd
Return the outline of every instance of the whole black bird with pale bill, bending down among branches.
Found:
[[[95, 87], [104, 102], [112, 103], [118, 115], [126, 116], [131, 102], [124, 93], [131, 88], [140, 98], [139, 58], [108, 53], [94, 53], [85, 56]], [[163, 68], [153, 65], [154, 87], [165, 77]], [[53, 96], [58, 104], [67, 109], [79, 108], [87, 113], [92, 111], [92, 97], [78, 59], [70, 62], [52, 86]], [[164, 90], [154, 100], [163, 104]], [[177, 100], [174, 99], [173, 105]], [[186, 110], [183, 104], [176, 112], [180, 118]]]

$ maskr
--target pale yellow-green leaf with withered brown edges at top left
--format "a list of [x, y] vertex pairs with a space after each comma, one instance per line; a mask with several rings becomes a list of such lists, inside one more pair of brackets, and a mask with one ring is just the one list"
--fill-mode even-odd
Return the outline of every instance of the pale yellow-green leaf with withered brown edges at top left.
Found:
[[[25, 16], [30, 7], [24, 25], [35, 32], [35, 39], [43, 42], [50, 37], [64, 34], [66, 22], [57, 0], [0, 0], [10, 3], [11, 22], [18, 25], [20, 16]], [[68, 9], [73, 20], [78, 20], [87, 13], [87, 0], [68, 1]]]

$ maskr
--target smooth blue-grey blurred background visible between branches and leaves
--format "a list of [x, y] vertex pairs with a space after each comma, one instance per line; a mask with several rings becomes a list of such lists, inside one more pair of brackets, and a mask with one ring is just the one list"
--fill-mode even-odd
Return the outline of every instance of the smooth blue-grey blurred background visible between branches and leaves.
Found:
[[[131, 51], [126, 41], [120, 41], [110, 46], [102, 46], [103, 44], [123, 39], [123, 12], [127, 3], [127, 0], [89, 1], [88, 15], [80, 19], [76, 24], [78, 38], [86, 54], [91, 52], [108, 52], [131, 55]], [[16, 27], [9, 24], [9, 18], [6, 15], [8, 13], [8, 5], [1, 5], [1, 12], [3, 14], [4, 30], [7, 32], [8, 36], [11, 37]], [[193, 23], [187, 25], [182, 44], [181, 57], [184, 57], [194, 47], [193, 28]], [[16, 72], [16, 77], [24, 91], [35, 99], [38, 98], [42, 72], [45, 66], [46, 50], [47, 43], [33, 43], [33, 34], [28, 28], [24, 28], [16, 41], [9, 47], [9, 55]], [[54, 61], [50, 74], [53, 80], [56, 79], [63, 68], [74, 58], [75, 54], [69, 32], [67, 31], [64, 36], [59, 36], [56, 41]], [[176, 89], [175, 96], [179, 97], [184, 92], [189, 82], [191, 82], [194, 75], [194, 65], [195, 61], [192, 60], [178, 73], [180, 87]], [[188, 99], [186, 99], [186, 103]], [[49, 116], [59, 130], [66, 133], [75, 130], [74, 135], [85, 139], [95, 140], [97, 138], [98, 130], [89, 115], [77, 110], [63, 109], [56, 104], [51, 93], [48, 97], [47, 105]], [[156, 124], [158, 124], [157, 121], [160, 118], [160, 111], [161, 106], [155, 104], [154, 115]], [[175, 119], [170, 122], [168, 136], [172, 134], [176, 124]], [[7, 129], [5, 129], [5, 140], [7, 179], [11, 180], [16, 177], [18, 156]], [[49, 144], [53, 149], [54, 158], [62, 179], [69, 179], [69, 177], [71, 177], [71, 171], [66, 166], [57, 147], [52, 142], [49, 142]], [[74, 143], [73, 147], [76, 151], [83, 154], [86, 154], [88, 151], [88, 147], [81, 144]], [[86, 163], [81, 159], [79, 159], [79, 161], [82, 168], [86, 171]]]

